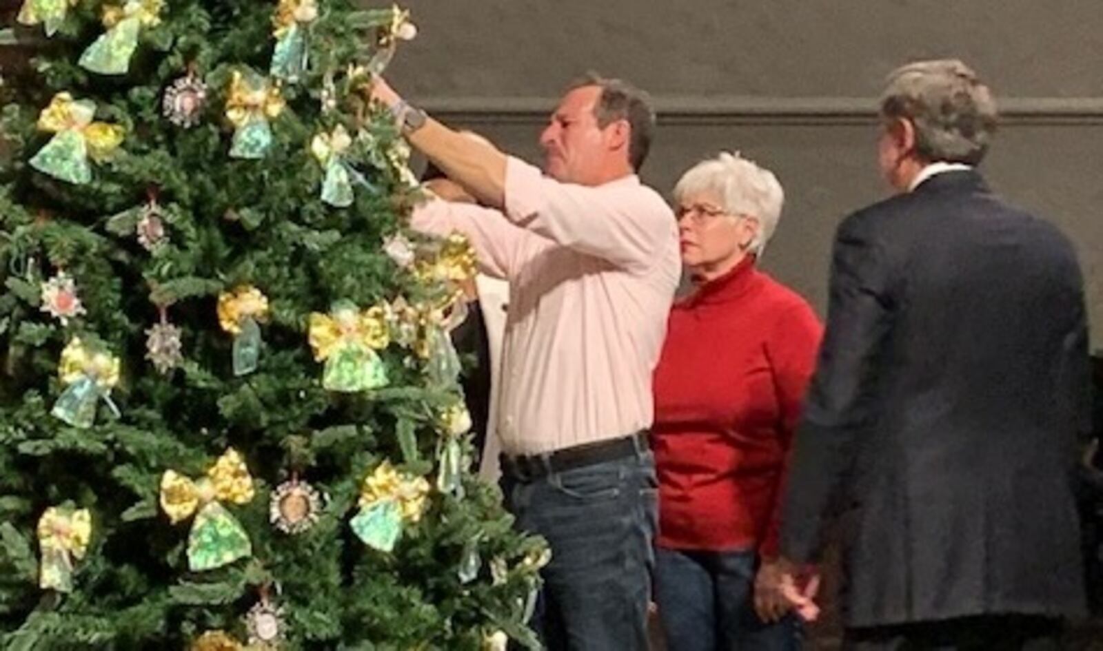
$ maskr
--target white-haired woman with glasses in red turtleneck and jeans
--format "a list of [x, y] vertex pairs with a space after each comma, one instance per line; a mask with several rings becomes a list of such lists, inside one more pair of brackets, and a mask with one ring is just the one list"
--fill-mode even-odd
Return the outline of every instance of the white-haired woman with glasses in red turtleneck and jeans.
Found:
[[770, 171], [721, 153], [686, 172], [674, 199], [695, 289], [671, 312], [654, 382], [655, 600], [667, 648], [800, 649], [789, 605], [756, 595], [754, 583], [772, 571], [822, 326], [804, 299], [756, 265], [784, 202]]

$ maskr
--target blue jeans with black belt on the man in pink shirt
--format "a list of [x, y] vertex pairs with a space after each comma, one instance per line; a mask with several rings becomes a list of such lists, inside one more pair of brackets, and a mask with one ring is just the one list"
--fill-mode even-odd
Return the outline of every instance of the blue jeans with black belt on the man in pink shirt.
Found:
[[531, 622], [549, 651], [647, 651], [657, 486], [646, 449], [536, 479], [503, 474], [516, 525], [552, 547]]

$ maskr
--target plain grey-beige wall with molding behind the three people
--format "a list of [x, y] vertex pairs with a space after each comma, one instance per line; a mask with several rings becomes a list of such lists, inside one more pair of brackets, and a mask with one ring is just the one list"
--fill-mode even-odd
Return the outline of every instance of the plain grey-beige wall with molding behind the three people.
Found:
[[537, 160], [561, 86], [595, 68], [647, 88], [661, 129], [644, 178], [664, 193], [738, 149], [788, 194], [763, 265], [822, 311], [831, 237], [884, 196], [874, 166], [884, 76], [964, 58], [1002, 99], [992, 184], [1068, 232], [1103, 346], [1103, 11], [1097, 0], [408, 0], [421, 28], [392, 69], [438, 116]]

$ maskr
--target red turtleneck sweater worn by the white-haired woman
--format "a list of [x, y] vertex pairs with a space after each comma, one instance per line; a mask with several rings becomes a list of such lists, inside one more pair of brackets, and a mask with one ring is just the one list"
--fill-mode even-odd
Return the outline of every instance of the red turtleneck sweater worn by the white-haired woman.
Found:
[[660, 546], [775, 554], [822, 334], [807, 302], [752, 258], [675, 303], [654, 384]]

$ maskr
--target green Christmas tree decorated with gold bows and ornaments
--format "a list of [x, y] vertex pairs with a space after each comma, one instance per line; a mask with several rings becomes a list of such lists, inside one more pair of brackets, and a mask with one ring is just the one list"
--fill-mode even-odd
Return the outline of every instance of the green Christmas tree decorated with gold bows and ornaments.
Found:
[[462, 238], [350, 0], [25, 0], [4, 93], [0, 648], [481, 649], [547, 561], [470, 473]]

